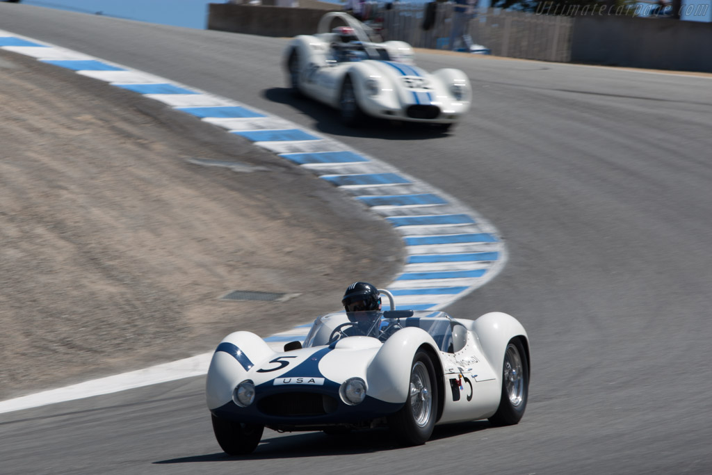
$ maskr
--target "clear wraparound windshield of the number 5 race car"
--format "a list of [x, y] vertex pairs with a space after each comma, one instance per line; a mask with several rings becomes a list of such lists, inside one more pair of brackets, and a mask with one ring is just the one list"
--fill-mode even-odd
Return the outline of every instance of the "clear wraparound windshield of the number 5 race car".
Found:
[[398, 330], [417, 327], [447, 351], [452, 340], [452, 320], [444, 312], [389, 310], [328, 313], [314, 320], [305, 347], [330, 345], [341, 338], [370, 336], [386, 341]]

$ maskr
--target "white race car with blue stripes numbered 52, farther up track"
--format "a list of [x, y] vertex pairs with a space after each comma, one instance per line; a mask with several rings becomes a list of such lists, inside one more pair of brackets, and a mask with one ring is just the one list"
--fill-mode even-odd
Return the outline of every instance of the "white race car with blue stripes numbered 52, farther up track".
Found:
[[[344, 23], [330, 29], [334, 20]], [[297, 93], [340, 110], [346, 125], [364, 115], [430, 122], [443, 130], [470, 108], [467, 75], [444, 68], [428, 73], [414, 65], [413, 49], [403, 41], [372, 41], [370, 28], [342, 12], [330, 12], [315, 35], [290, 41], [285, 65]]]

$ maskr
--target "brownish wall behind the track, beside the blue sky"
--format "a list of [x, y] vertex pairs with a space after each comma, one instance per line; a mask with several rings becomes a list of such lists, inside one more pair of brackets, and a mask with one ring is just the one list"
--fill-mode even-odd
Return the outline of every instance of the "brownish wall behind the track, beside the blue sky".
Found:
[[[340, 6], [335, 5], [334, 10]], [[208, 29], [262, 36], [297, 36], [316, 32], [323, 9], [210, 4]]]

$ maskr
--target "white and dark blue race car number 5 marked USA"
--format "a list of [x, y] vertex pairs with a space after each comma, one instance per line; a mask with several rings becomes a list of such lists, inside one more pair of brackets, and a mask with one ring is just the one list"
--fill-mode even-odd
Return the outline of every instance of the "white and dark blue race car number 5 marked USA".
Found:
[[[387, 295], [394, 308], [393, 297]], [[476, 320], [439, 311], [329, 313], [303, 345], [275, 351], [254, 333], [227, 335], [206, 381], [215, 437], [251, 453], [264, 427], [344, 431], [387, 425], [424, 444], [436, 424], [516, 424], [529, 387], [529, 341], [506, 313]]]

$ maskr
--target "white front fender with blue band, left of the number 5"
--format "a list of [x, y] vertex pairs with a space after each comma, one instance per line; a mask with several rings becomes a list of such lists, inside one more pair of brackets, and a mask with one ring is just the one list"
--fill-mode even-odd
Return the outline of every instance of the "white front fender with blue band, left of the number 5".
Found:
[[256, 362], [276, 353], [254, 333], [239, 331], [227, 335], [210, 361], [205, 382], [208, 409], [216, 409], [232, 400], [235, 386], [245, 379]]

